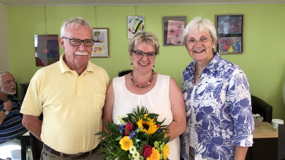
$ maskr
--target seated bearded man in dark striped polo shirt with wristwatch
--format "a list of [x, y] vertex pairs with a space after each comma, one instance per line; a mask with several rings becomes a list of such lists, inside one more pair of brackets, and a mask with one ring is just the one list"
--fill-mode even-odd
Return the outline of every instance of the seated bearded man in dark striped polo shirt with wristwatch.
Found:
[[21, 103], [13, 95], [16, 80], [10, 72], [0, 72], [0, 158], [21, 158], [16, 136], [26, 128], [22, 124]]

